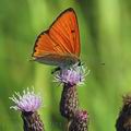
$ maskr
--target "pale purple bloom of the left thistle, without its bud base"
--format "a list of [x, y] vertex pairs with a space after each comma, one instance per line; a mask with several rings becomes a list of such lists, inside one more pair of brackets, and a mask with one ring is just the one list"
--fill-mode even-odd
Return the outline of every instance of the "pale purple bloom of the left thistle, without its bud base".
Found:
[[21, 95], [20, 93], [15, 93], [15, 95], [10, 97], [10, 99], [13, 100], [15, 104], [10, 108], [13, 108], [15, 110], [34, 112], [41, 106], [41, 97], [39, 95], [36, 95], [34, 93], [34, 90], [31, 92], [27, 88], [27, 91], [23, 91], [23, 95]]

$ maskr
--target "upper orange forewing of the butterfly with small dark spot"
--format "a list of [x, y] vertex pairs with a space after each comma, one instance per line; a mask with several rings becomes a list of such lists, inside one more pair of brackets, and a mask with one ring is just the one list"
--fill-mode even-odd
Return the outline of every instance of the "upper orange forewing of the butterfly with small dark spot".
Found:
[[67, 52], [80, 56], [80, 34], [73, 9], [62, 12], [49, 28], [49, 36]]

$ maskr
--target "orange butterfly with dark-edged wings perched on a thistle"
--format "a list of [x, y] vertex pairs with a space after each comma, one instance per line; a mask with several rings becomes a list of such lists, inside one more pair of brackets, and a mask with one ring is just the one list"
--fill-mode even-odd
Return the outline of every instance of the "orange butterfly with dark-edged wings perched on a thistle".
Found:
[[37, 37], [32, 56], [35, 61], [58, 66], [60, 69], [80, 63], [79, 25], [72, 8], [63, 11]]

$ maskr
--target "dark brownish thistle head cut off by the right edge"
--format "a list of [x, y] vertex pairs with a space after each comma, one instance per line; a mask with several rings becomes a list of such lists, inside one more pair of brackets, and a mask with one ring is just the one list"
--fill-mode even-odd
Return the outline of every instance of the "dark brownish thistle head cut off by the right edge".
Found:
[[123, 96], [123, 106], [116, 122], [117, 131], [131, 131], [131, 95]]

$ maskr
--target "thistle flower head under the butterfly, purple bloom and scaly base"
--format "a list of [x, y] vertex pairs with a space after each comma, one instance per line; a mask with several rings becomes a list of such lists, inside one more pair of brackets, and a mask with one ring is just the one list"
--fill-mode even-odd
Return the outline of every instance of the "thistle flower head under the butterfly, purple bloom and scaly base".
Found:
[[79, 109], [76, 85], [83, 84], [85, 75], [85, 68], [79, 64], [74, 64], [70, 69], [61, 69], [59, 72], [56, 72], [56, 81], [63, 83], [60, 112], [61, 116], [69, 120], [73, 118], [75, 111]]

